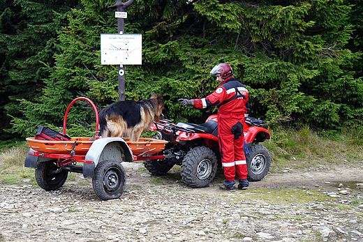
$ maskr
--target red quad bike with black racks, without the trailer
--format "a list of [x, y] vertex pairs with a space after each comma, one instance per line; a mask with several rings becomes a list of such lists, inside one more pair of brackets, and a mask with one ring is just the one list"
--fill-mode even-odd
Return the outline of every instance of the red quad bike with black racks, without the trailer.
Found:
[[[186, 185], [203, 188], [216, 175], [221, 157], [218, 146], [217, 115], [211, 115], [202, 124], [172, 123], [168, 119], [154, 122], [151, 130], [159, 132], [154, 139], [168, 141], [163, 152], [144, 160], [146, 169], [154, 175], [167, 173], [174, 165], [180, 165], [180, 174]], [[270, 138], [265, 121], [247, 118], [244, 124], [247, 169], [249, 181], [260, 181], [269, 171], [271, 156], [269, 151], [258, 144]]]

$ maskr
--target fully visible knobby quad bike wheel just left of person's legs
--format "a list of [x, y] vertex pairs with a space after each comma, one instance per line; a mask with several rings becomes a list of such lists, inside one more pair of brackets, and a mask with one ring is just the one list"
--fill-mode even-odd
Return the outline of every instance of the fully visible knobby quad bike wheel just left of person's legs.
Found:
[[186, 153], [180, 175], [186, 185], [204, 188], [216, 176], [217, 166], [216, 154], [205, 146], [198, 146]]

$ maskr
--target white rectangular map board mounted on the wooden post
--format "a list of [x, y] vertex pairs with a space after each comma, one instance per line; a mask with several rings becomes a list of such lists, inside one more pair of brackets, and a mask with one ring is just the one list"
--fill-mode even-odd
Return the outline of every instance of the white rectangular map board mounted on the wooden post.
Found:
[[141, 33], [101, 33], [101, 65], [141, 64]]

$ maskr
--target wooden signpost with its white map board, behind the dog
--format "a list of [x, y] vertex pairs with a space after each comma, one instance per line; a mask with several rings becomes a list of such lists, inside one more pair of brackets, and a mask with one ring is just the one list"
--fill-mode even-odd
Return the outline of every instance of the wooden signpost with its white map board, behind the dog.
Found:
[[[116, 4], [113, 6], [109, 6], [108, 8], [114, 8], [116, 7], [117, 12], [114, 14], [114, 17], [117, 17], [117, 33], [118, 35], [124, 35], [124, 19], [127, 18], [127, 13], [125, 12], [126, 8], [128, 8], [128, 6], [130, 6], [133, 3], [133, 0], [128, 0], [126, 1], [126, 3], [123, 3], [121, 0], [116, 0]], [[109, 65], [106, 62], [112, 62], [113, 64], [117, 64], [119, 65], [119, 101], [123, 101], [125, 100], [125, 66], [128, 63], [114, 63], [113, 61], [115, 61], [115, 59], [117, 59], [116, 56], [119, 56], [120, 61], [125, 61], [125, 59], [128, 59], [130, 57], [132, 57], [131, 59], [134, 59], [134, 54], [131, 54], [132, 52], [134, 52], [135, 50], [137, 50], [137, 48], [133, 51], [131, 51], [130, 45], [132, 41], [128, 42], [127, 44], [125, 43], [126, 39], [118, 39], [116, 38], [116, 40], [112, 40], [110, 38], [108, 38], [106, 36], [106, 38], [103, 39], [102, 41], [102, 37], [103, 35], [101, 35], [101, 64], [102, 65]], [[140, 35], [141, 38], [141, 35]], [[106, 43], [106, 47], [103, 47], [103, 43]], [[112, 47], [110, 44], [114, 45], [114, 47]], [[103, 49], [104, 48], [104, 49]], [[108, 49], [108, 50], [106, 50]], [[107, 55], [107, 53], [109, 54], [107, 57], [106, 55], [102, 56], [102, 52], [105, 52], [104, 54]], [[141, 47], [140, 47], [140, 52], [141, 52]], [[113, 53], [113, 54], [112, 54]], [[119, 53], [119, 54], [116, 54]], [[125, 54], [125, 56], [124, 56]], [[109, 57], [110, 56], [110, 57]], [[122, 56], [122, 57], [121, 57]], [[105, 61], [105, 63], [103, 63], [103, 61]], [[141, 58], [140, 58], [141, 61]], [[141, 65], [141, 62], [138, 64]]]

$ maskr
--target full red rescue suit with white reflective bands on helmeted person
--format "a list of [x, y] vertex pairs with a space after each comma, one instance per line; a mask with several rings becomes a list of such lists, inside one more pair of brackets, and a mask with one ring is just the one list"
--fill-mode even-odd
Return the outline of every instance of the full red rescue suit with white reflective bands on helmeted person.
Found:
[[243, 125], [249, 115], [249, 91], [235, 77], [228, 77], [207, 98], [194, 99], [193, 107], [202, 109], [218, 105], [218, 140], [225, 179], [247, 179], [244, 156]]

